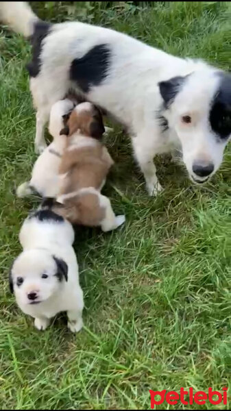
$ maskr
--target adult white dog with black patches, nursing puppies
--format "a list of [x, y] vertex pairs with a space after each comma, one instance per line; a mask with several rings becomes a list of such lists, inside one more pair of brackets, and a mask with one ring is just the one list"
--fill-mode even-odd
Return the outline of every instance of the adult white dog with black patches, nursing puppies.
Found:
[[181, 149], [193, 182], [217, 171], [231, 134], [230, 74], [111, 29], [45, 23], [24, 2], [1, 2], [0, 17], [32, 42], [28, 70], [39, 151], [51, 105], [75, 90], [127, 126], [150, 195], [161, 190], [158, 153]]

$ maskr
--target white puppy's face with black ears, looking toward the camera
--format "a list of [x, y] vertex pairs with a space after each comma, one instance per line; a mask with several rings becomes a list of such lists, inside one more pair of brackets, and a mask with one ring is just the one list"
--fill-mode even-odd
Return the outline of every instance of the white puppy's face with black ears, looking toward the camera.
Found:
[[10, 290], [23, 304], [47, 301], [67, 281], [68, 266], [64, 260], [45, 249], [23, 251], [10, 271]]

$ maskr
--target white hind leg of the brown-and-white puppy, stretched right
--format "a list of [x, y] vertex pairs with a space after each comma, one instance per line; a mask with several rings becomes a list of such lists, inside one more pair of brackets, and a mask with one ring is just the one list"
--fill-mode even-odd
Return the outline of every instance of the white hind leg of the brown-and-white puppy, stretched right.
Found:
[[104, 219], [101, 221], [100, 226], [103, 232], [111, 231], [112, 229], [116, 229], [120, 225], [125, 222], [125, 216], [119, 215], [116, 216], [114, 211], [112, 210], [112, 206], [108, 197], [104, 195], [99, 195], [99, 203], [101, 207], [104, 207], [105, 216]]

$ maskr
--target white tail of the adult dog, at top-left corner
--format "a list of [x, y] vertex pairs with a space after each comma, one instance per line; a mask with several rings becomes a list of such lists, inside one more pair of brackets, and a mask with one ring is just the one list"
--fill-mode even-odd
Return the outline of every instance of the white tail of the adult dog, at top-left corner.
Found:
[[36, 14], [25, 1], [0, 1], [0, 21], [9, 25], [14, 32], [25, 37], [32, 36]]

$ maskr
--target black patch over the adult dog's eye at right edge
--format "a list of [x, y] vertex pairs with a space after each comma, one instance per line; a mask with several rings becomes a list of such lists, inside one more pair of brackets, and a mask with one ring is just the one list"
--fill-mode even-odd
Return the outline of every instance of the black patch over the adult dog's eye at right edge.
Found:
[[221, 82], [212, 101], [209, 121], [212, 131], [222, 140], [231, 134], [231, 75], [219, 73]]

